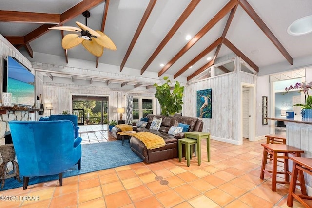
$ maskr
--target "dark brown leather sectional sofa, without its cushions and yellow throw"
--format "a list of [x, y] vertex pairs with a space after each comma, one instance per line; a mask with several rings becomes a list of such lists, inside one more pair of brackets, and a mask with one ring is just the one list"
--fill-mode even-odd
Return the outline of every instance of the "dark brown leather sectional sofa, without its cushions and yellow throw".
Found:
[[[136, 131], [154, 133], [162, 137], [166, 142], [166, 145], [164, 147], [147, 150], [146, 146], [140, 140], [138, 140], [136, 137], [131, 137], [131, 150], [134, 151], [146, 163], [178, 157], [178, 139], [184, 138], [184, 133], [178, 133], [175, 136], [168, 134], [167, 132], [169, 131], [171, 126], [177, 126], [178, 123], [183, 123], [190, 125], [188, 130], [189, 132], [202, 132], [203, 130], [203, 121], [198, 118], [185, 116], [167, 117], [163, 115], [152, 114], [147, 115], [146, 117], [148, 117], [147, 126], [145, 128], [138, 127]], [[157, 119], [162, 118], [162, 123], [159, 131], [149, 129], [154, 117], [156, 117]]]

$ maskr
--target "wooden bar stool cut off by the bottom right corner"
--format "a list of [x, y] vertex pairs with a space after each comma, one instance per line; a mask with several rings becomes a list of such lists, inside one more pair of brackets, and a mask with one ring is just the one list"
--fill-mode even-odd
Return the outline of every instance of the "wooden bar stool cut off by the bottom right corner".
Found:
[[287, 206], [292, 207], [293, 204], [293, 198], [298, 200], [302, 205], [304, 205], [306, 208], [311, 208], [312, 205], [308, 205], [303, 199], [310, 199], [312, 200], [311, 196], [307, 196], [307, 190], [306, 186], [303, 183], [301, 186], [301, 195], [295, 193], [296, 189], [296, 182], [297, 182], [297, 176], [299, 173], [299, 177], [303, 178], [304, 176], [303, 172], [308, 173], [309, 175], [312, 175], [312, 158], [305, 158], [305, 157], [291, 157], [290, 158], [294, 164], [292, 167], [292, 179], [289, 187], [288, 192], [288, 198], [287, 198]]

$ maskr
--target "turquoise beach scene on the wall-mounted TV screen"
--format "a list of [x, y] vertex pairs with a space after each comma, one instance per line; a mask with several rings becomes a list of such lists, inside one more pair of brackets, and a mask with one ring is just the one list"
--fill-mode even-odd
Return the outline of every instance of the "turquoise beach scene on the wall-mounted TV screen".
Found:
[[35, 76], [12, 57], [8, 57], [7, 92], [12, 93], [12, 105], [34, 105]]

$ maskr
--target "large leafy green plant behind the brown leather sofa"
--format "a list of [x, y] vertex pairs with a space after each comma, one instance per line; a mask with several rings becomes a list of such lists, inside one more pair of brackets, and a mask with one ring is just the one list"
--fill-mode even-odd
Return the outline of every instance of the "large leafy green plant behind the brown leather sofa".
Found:
[[176, 81], [175, 87], [171, 90], [169, 85], [171, 81], [168, 76], [165, 76], [164, 80], [166, 83], [162, 85], [154, 84], [156, 87], [155, 97], [161, 105], [161, 114], [172, 116], [182, 111], [184, 86], [180, 86], [180, 83]]

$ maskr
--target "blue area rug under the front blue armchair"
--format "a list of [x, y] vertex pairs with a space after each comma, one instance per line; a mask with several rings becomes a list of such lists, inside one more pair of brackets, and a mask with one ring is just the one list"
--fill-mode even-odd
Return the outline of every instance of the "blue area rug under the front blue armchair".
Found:
[[[81, 145], [81, 147], [81, 170], [78, 170], [78, 165], [75, 165], [63, 173], [63, 178], [142, 162], [142, 159], [131, 151], [127, 141], [125, 141], [123, 146], [121, 140], [117, 140], [112, 142]], [[20, 179], [22, 180], [23, 177], [20, 176]], [[28, 185], [57, 179], [59, 179], [59, 175], [30, 177]], [[5, 180], [5, 185], [3, 189], [0, 189], [0, 191], [22, 186], [23, 182], [18, 182], [14, 178], [9, 178]]]

